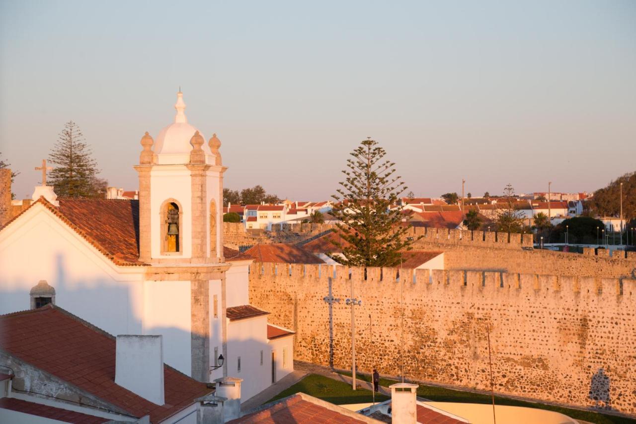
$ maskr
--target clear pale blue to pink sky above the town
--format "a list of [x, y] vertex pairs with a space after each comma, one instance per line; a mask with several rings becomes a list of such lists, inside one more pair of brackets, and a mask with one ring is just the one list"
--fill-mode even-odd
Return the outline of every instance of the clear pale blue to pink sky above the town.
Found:
[[1, 1], [0, 152], [39, 181], [74, 120], [110, 185], [144, 131], [216, 132], [226, 187], [328, 199], [371, 136], [416, 195], [636, 170], [636, 1]]

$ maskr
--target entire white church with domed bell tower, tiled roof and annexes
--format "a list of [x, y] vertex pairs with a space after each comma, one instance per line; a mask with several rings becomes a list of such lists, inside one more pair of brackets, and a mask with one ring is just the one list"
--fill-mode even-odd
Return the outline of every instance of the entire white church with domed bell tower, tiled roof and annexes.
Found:
[[221, 142], [188, 124], [181, 92], [175, 108], [156, 140], [141, 139], [139, 201], [57, 199], [43, 185], [0, 229], [0, 314], [54, 303], [109, 334], [161, 335], [165, 362], [198, 381], [235, 375], [240, 357], [263, 370], [241, 372], [246, 400], [272, 367], [276, 379], [291, 371], [291, 348], [280, 361], [293, 333], [270, 340], [266, 318], [247, 333], [250, 321], [229, 318], [249, 306], [252, 258], [223, 246]]

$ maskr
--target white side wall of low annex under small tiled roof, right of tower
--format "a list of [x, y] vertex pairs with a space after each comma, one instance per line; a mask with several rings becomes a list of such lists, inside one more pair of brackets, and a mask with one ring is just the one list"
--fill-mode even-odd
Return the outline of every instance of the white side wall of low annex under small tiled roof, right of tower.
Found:
[[[266, 315], [228, 321], [228, 376], [244, 380], [241, 383], [241, 402], [261, 392], [272, 383], [272, 353], [267, 344], [266, 334]], [[261, 351], [263, 351], [262, 365]]]

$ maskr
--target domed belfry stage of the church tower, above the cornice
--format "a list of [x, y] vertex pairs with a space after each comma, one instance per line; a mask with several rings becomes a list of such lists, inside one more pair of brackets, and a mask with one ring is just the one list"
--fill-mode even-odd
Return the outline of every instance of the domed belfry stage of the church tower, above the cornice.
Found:
[[139, 258], [150, 264], [216, 264], [223, 258], [221, 141], [188, 124], [183, 93], [174, 122], [141, 138]]

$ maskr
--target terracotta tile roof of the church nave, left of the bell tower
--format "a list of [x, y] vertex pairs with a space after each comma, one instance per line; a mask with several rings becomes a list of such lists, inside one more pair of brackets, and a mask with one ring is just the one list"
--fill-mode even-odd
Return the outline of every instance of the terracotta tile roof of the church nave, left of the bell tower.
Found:
[[[139, 243], [139, 201], [62, 198], [59, 199], [59, 202], [60, 206], [56, 208], [44, 197], [40, 197], [22, 213], [33, 208], [36, 204], [41, 204], [115, 264], [147, 265], [139, 262], [139, 249], [137, 247]], [[15, 221], [18, 216], [7, 222], [3, 229]]]

